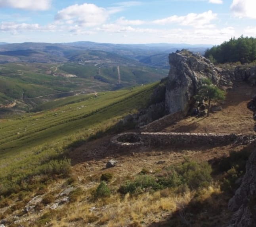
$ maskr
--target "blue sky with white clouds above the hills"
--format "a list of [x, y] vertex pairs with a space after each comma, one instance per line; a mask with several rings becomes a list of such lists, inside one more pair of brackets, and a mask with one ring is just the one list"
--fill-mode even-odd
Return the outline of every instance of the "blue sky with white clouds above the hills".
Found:
[[0, 42], [221, 44], [256, 36], [255, 0], [0, 0]]

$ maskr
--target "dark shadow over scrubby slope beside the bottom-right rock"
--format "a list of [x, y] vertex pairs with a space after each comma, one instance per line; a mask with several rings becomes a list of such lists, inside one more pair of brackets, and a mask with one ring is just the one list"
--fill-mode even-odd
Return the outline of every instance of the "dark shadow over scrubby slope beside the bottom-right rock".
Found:
[[212, 175], [220, 189], [209, 188], [210, 193], [201, 189], [195, 193], [188, 204], [177, 204], [178, 210], [166, 220], [154, 222], [148, 227], [216, 227], [227, 226], [232, 212], [228, 210], [228, 202], [239, 187], [241, 177], [245, 173], [245, 165], [255, 142], [231, 151], [229, 156], [214, 158]]

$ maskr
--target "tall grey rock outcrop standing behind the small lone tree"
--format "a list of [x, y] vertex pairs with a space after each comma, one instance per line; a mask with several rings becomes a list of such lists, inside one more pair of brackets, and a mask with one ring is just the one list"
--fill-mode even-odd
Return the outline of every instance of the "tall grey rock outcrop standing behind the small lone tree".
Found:
[[196, 95], [200, 79], [218, 84], [221, 76], [214, 65], [201, 55], [188, 50], [169, 55], [170, 72], [166, 84], [165, 107], [168, 113], [187, 112]]

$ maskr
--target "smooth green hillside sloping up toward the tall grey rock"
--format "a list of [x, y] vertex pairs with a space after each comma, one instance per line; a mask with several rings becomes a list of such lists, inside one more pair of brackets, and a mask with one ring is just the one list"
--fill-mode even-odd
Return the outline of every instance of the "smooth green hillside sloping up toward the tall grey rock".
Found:
[[[40, 174], [38, 166], [63, 158], [67, 148], [109, 129], [149, 103], [158, 83], [48, 102], [42, 112], [0, 120], [0, 194]], [[26, 189], [27, 190], [27, 189]]]

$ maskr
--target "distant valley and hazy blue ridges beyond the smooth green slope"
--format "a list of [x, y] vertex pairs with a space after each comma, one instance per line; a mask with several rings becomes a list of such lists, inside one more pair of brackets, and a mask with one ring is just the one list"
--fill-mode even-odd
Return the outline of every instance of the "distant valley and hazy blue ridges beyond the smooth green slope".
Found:
[[55, 98], [159, 81], [168, 76], [169, 53], [186, 48], [203, 54], [207, 47], [210, 46], [0, 43], [0, 115], [13, 109], [28, 111]]

